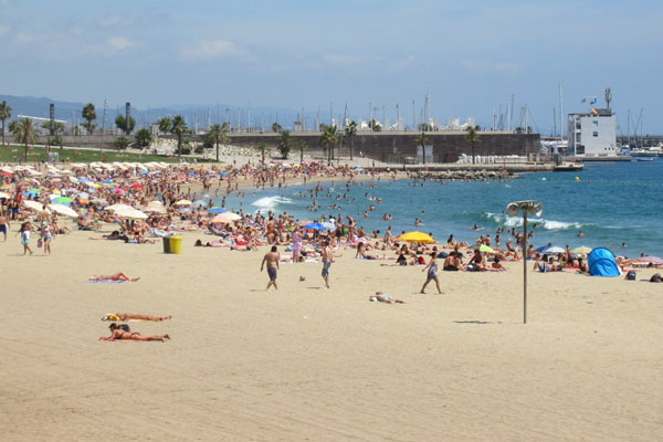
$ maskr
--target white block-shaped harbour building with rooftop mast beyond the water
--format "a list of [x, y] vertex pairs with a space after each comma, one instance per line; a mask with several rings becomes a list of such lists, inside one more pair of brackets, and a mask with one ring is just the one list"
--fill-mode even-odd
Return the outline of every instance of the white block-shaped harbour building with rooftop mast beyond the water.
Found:
[[617, 118], [611, 109], [591, 109], [569, 114], [569, 154], [578, 156], [613, 156], [617, 146]]

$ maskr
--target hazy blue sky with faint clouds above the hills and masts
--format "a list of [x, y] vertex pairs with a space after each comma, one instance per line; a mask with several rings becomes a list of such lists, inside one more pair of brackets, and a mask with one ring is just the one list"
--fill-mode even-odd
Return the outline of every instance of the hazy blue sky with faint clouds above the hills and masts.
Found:
[[[0, 93], [135, 106], [277, 106], [492, 123], [515, 96], [541, 133], [611, 87], [663, 133], [660, 1], [0, 0]], [[602, 103], [602, 99], [599, 102]], [[532, 123], [532, 120], [530, 120]]]

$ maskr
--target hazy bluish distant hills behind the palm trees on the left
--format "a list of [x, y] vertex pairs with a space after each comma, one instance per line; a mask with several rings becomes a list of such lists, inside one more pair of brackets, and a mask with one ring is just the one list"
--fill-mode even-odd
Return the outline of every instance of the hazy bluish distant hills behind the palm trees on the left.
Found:
[[[60, 102], [53, 101], [48, 97], [31, 97], [31, 96], [14, 96], [14, 95], [2, 95], [0, 94], [0, 102], [6, 101], [11, 106], [11, 119], [15, 119], [18, 115], [28, 115], [32, 117], [49, 117], [49, 105], [55, 104], [55, 118], [63, 119], [66, 122], [74, 122], [78, 124], [81, 122], [81, 109], [85, 106], [85, 103], [76, 102]], [[96, 124], [101, 125], [104, 113], [103, 103], [94, 103], [97, 112]], [[217, 109], [219, 110], [217, 113]], [[227, 110], [227, 109], [230, 109]], [[189, 127], [193, 128], [196, 122], [198, 127], [203, 128], [206, 124], [223, 123], [228, 120], [230, 114], [231, 125], [235, 127], [241, 117], [242, 127], [246, 127], [249, 123], [249, 109], [246, 106], [240, 108], [234, 105], [219, 104], [213, 106], [196, 106], [196, 105], [171, 105], [167, 107], [158, 107], [148, 109], [140, 109], [131, 107], [131, 116], [136, 118], [138, 127], [145, 127], [149, 122], [157, 122], [164, 116], [182, 115], [187, 119]], [[124, 115], [124, 104], [117, 106], [117, 104], [108, 104], [106, 114], [106, 127], [114, 127], [115, 117], [117, 113]], [[288, 108], [278, 107], [252, 107], [251, 108], [251, 122], [253, 127], [264, 126], [265, 130], [271, 130], [272, 124], [278, 120], [284, 128], [290, 129], [293, 127], [293, 122], [299, 118], [299, 113]], [[305, 118], [307, 126], [316, 119], [316, 115], [313, 112], [306, 112]], [[327, 117], [328, 118], [328, 117]]]

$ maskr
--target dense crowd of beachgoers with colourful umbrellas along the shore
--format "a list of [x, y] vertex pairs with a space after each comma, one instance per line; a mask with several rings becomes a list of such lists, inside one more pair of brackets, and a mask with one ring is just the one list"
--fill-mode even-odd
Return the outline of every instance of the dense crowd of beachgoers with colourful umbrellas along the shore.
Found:
[[[402, 240], [407, 232], [399, 234], [388, 227], [383, 233], [366, 231], [351, 214], [343, 214], [343, 208], [336, 203], [327, 209], [334, 214], [324, 214], [319, 207], [319, 196], [332, 196], [332, 186], [346, 187], [338, 193], [338, 201], [346, 200], [349, 188], [358, 179], [396, 179], [394, 171], [367, 171], [345, 167], [328, 167], [311, 161], [302, 165], [261, 165], [245, 164], [199, 165], [177, 164], [91, 164], [71, 165], [55, 168], [48, 164], [34, 166], [1, 167], [0, 176], [0, 232], [7, 241], [13, 223], [18, 227], [15, 236], [20, 236], [23, 254], [33, 254], [33, 235], [39, 238], [38, 249], [43, 254], [52, 253], [53, 240], [74, 230], [96, 232], [104, 229], [110, 232], [94, 234], [91, 240], [123, 241], [128, 244], [154, 244], [160, 238], [192, 231], [212, 236], [210, 241], [198, 239], [194, 246], [228, 248], [230, 251], [256, 251], [269, 246], [263, 256], [261, 271], [266, 270], [269, 283], [278, 290], [277, 273], [280, 263], [318, 262], [325, 287], [330, 287], [330, 271], [336, 257], [348, 249], [357, 260], [379, 261], [382, 266], [421, 266], [425, 273], [420, 293], [425, 293], [430, 283], [442, 294], [440, 272], [505, 272], [504, 262], [529, 260], [533, 271], [549, 273], [573, 271], [589, 273], [585, 254], [572, 253], [567, 245], [562, 253], [539, 253], [529, 245], [525, 256], [522, 246], [525, 239], [516, 229], [498, 228], [495, 236], [481, 233], [473, 243], [459, 242], [451, 234], [446, 242]], [[421, 177], [407, 175], [412, 186], [423, 185]], [[248, 188], [265, 187], [286, 189], [292, 180], [309, 182], [298, 197], [311, 200], [308, 209], [315, 213], [314, 220], [296, 219], [293, 214], [244, 212], [242, 208], [230, 211], [225, 197], [244, 197]], [[332, 185], [325, 187], [325, 182]], [[317, 181], [317, 182], [316, 182]], [[372, 181], [371, 181], [372, 182]], [[368, 185], [370, 189], [371, 186]], [[343, 194], [343, 196], [341, 196]], [[381, 198], [365, 193], [368, 208], [364, 218], [368, 219], [382, 203]], [[220, 204], [214, 206], [214, 200]], [[318, 215], [318, 213], [320, 213]], [[421, 212], [421, 217], [424, 212]], [[71, 228], [62, 218], [71, 219]], [[391, 214], [385, 213], [382, 220], [389, 222]], [[414, 227], [421, 225], [419, 219]], [[472, 230], [482, 231], [474, 225]], [[534, 231], [528, 233], [527, 242], [533, 240]], [[503, 236], [508, 236], [504, 244]], [[403, 236], [404, 238], [404, 236]], [[552, 245], [552, 244], [548, 244]], [[278, 252], [282, 248], [284, 253]], [[347, 252], [346, 252], [347, 253]], [[440, 262], [440, 264], [438, 264]], [[622, 267], [633, 261], [620, 262]], [[109, 275], [95, 275], [91, 282], [136, 282], [123, 272]], [[303, 276], [299, 277], [303, 281]], [[392, 295], [376, 292], [370, 301], [389, 304], [402, 303]], [[113, 326], [113, 324], [112, 324]], [[138, 337], [120, 327], [110, 329], [109, 340], [164, 340], [168, 335]]]

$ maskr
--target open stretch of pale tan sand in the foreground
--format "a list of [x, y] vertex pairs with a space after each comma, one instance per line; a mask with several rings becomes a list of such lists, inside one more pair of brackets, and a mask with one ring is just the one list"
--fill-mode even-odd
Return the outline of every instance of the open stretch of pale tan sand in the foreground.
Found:
[[[0, 242], [3, 441], [659, 441], [663, 284], [577, 274], [332, 267], [263, 252], [59, 236]], [[94, 233], [93, 233], [94, 234]], [[33, 241], [35, 244], [35, 241]], [[41, 251], [36, 252], [41, 253]], [[92, 284], [123, 270], [137, 283]], [[651, 271], [640, 272], [648, 277]], [[306, 277], [298, 282], [299, 275]], [[408, 304], [370, 303], [377, 290]], [[104, 343], [110, 312], [167, 343]]]

